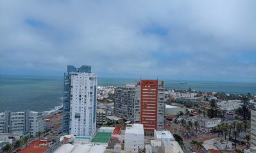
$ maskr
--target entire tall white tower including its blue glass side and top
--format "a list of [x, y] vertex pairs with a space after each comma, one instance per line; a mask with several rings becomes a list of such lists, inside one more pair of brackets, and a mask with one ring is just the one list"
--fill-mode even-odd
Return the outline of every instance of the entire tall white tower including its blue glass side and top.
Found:
[[91, 66], [67, 66], [62, 135], [93, 136], [96, 133], [97, 80]]

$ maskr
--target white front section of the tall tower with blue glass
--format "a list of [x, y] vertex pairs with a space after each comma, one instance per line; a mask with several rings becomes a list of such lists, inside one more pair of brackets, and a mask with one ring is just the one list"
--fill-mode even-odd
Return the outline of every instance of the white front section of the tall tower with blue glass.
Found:
[[92, 136], [96, 133], [97, 75], [71, 73], [69, 133]]

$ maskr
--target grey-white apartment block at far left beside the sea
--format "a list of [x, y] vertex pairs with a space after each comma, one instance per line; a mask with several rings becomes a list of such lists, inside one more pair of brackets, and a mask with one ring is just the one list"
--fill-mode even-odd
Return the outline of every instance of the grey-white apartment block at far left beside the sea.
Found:
[[30, 133], [35, 137], [38, 131], [44, 131], [44, 114], [26, 110], [24, 112], [5, 111], [0, 113], [0, 133]]

